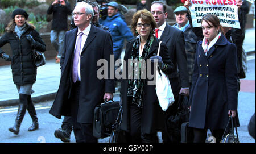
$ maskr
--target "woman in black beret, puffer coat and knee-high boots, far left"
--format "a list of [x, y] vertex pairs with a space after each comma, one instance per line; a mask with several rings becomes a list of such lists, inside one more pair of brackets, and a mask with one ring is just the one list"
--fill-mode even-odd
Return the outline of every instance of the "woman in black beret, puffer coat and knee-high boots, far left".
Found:
[[[34, 93], [32, 86], [36, 81], [36, 65], [33, 62], [33, 49], [40, 52], [46, 51], [46, 44], [35, 30], [35, 26], [27, 22], [28, 13], [23, 9], [15, 9], [11, 15], [12, 20], [6, 27], [5, 34], [0, 38], [0, 58], [11, 61], [13, 82], [19, 93], [19, 107], [13, 127], [9, 131], [19, 134], [20, 124], [26, 114], [26, 110], [32, 118], [32, 126], [28, 131], [39, 128], [35, 106], [31, 99]], [[1, 50], [3, 45], [9, 43], [12, 56]]]

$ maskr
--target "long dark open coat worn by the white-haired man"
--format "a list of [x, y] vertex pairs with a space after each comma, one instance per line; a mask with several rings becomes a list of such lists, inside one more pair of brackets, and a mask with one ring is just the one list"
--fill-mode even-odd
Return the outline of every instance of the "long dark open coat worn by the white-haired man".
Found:
[[[49, 111], [50, 114], [57, 118], [61, 118], [61, 115], [71, 115], [69, 96], [73, 85], [71, 73], [76, 35], [77, 28], [65, 34], [65, 55], [62, 59], [60, 86]], [[104, 65], [104, 67], [108, 67], [108, 72], [104, 73], [109, 73], [110, 65], [113, 65], [112, 68], [114, 68], [114, 59], [113, 63], [110, 63], [110, 54], [113, 54], [110, 33], [92, 25], [84, 48], [81, 51], [81, 88], [77, 115], [77, 122], [79, 123], [92, 123], [94, 108], [104, 101], [104, 94], [114, 93], [114, 80], [99, 79], [97, 77], [98, 69], [102, 68], [102, 66], [97, 66], [98, 60], [105, 59], [108, 62], [107, 65]]]

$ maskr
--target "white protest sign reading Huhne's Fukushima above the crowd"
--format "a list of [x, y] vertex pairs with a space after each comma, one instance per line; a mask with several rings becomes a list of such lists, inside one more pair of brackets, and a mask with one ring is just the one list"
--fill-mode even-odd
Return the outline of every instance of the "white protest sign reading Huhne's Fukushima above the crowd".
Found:
[[191, 0], [189, 7], [193, 27], [201, 27], [201, 19], [206, 14], [213, 14], [225, 27], [240, 28], [236, 0]]

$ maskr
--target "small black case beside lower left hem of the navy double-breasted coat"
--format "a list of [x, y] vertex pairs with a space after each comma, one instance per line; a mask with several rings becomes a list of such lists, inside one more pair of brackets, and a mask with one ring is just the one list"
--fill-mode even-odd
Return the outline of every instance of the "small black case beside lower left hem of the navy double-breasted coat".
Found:
[[181, 143], [192, 143], [193, 142], [193, 128], [188, 127], [188, 122], [184, 122], [181, 124]]

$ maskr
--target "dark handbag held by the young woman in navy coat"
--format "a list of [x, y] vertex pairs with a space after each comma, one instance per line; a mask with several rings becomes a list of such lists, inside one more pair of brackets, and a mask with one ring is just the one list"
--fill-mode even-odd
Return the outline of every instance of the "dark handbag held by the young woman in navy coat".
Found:
[[[229, 125], [230, 122], [231, 122], [231, 130], [228, 129], [230, 127], [230, 125]], [[224, 134], [222, 135], [221, 143], [239, 143], [237, 127], [234, 127], [234, 124], [235, 124], [235, 126], [237, 126], [236, 120], [234, 120], [234, 123], [233, 123], [233, 118], [232, 118], [232, 116], [230, 116], [230, 118], [228, 120], [228, 124], [226, 124]], [[237, 136], [234, 135], [234, 128], [236, 129]], [[228, 133], [229, 130], [230, 130], [230, 132]]]

